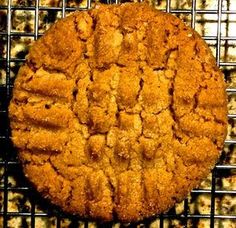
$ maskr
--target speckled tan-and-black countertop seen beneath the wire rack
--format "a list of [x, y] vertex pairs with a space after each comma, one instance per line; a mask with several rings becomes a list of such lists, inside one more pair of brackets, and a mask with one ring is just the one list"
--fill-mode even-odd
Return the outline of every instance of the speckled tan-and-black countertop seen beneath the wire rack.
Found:
[[[30, 44], [34, 40], [35, 29], [38, 27], [38, 34], [41, 35], [47, 30], [52, 23], [54, 23], [58, 18], [61, 18], [63, 13], [65, 16], [70, 13], [70, 7], [86, 8], [87, 0], [9, 0], [11, 6], [15, 6], [15, 9], [11, 10], [11, 32], [15, 33], [11, 36], [10, 42], [10, 69], [9, 75], [10, 80], [7, 79], [7, 0], [0, 0], [0, 90], [4, 89], [6, 83], [12, 84], [17, 71], [22, 64], [22, 59], [24, 59]], [[149, 3], [158, 9], [165, 10], [168, 8], [166, 0], [149, 0]], [[192, 2], [193, 1], [193, 2]], [[114, 1], [115, 2], [115, 1]], [[177, 16], [184, 20], [187, 24], [191, 25], [191, 20], [195, 20], [195, 29], [199, 32], [201, 36], [204, 36], [212, 49], [213, 53], [216, 55], [216, 37], [217, 37], [217, 0], [171, 0], [170, 9], [174, 11]], [[195, 4], [195, 9], [199, 10], [196, 14], [192, 13], [192, 3]], [[36, 16], [34, 7], [37, 5], [40, 7], [38, 15]], [[94, 2], [92, 2], [94, 4]], [[63, 11], [62, 6], [68, 7], [68, 10]], [[18, 8], [17, 8], [18, 7]], [[20, 9], [20, 7], [29, 7], [27, 9]], [[32, 8], [31, 8], [32, 7]], [[53, 8], [54, 7], [54, 10]], [[175, 10], [181, 10], [181, 12], [176, 12]], [[221, 42], [220, 42], [220, 56], [219, 60], [222, 63], [221, 69], [225, 74], [228, 88], [236, 88], [236, 1], [235, 0], [222, 0], [222, 9], [226, 13], [222, 14], [221, 18]], [[202, 13], [201, 13], [202, 10]], [[203, 10], [210, 10], [205, 12]], [[229, 11], [235, 11], [235, 13], [230, 13]], [[227, 13], [228, 12], [228, 13]], [[37, 25], [35, 24], [35, 19], [38, 18]], [[9, 19], [9, 18], [8, 18]], [[231, 64], [231, 65], [230, 65]], [[1, 91], [0, 91], [1, 92]], [[228, 93], [229, 103], [228, 110], [229, 114], [236, 114], [236, 93]], [[4, 96], [1, 93], [0, 96]], [[0, 103], [4, 102], [1, 99]], [[0, 104], [1, 107], [1, 104]], [[0, 110], [1, 112], [1, 110]], [[228, 125], [228, 135], [227, 140], [233, 140], [236, 138], [236, 119], [229, 118]], [[5, 126], [6, 128], [6, 126]], [[3, 130], [0, 130], [4, 131]], [[66, 217], [64, 215], [59, 215], [55, 209], [51, 210], [47, 208], [47, 204], [44, 201], [34, 199], [34, 194], [31, 194], [31, 189], [28, 189], [27, 182], [22, 179], [21, 168], [16, 161], [16, 156], [14, 153], [9, 155], [8, 160], [13, 161], [8, 165], [7, 181], [4, 169], [4, 155], [6, 153], [7, 147], [0, 148], [0, 227], [3, 224], [3, 214], [6, 210], [4, 208], [4, 196], [7, 195], [7, 212], [23, 212], [27, 213], [34, 211], [36, 217], [34, 219], [35, 227], [84, 227], [85, 223], [73, 218]], [[215, 215], [228, 216], [224, 219], [215, 219], [214, 224], [217, 228], [236, 228], [236, 144], [226, 144], [224, 151], [221, 156], [219, 165], [234, 166], [234, 168], [223, 169], [219, 168], [215, 172], [215, 190], [218, 192], [215, 194], [214, 206]], [[5, 178], [5, 179], [4, 179]], [[11, 189], [7, 192], [4, 187], [8, 185]], [[24, 188], [26, 186], [26, 188]], [[21, 188], [19, 188], [21, 187]], [[200, 186], [201, 191], [193, 191], [185, 202], [181, 202], [176, 205], [168, 214], [175, 215], [176, 218], [171, 216], [164, 216], [163, 227], [199, 227], [207, 228], [210, 227], [210, 218], [208, 215], [211, 213], [211, 187], [212, 187], [212, 175], [204, 180]], [[206, 215], [205, 218], [189, 218], [178, 219], [180, 217], [184, 218], [183, 215]], [[13, 213], [14, 214], [14, 213]], [[178, 216], [179, 215], [179, 216]], [[230, 218], [230, 216], [235, 216], [235, 218]], [[58, 220], [58, 217], [60, 219]], [[194, 217], [194, 216], [193, 216]], [[9, 216], [7, 225], [8, 227], [31, 227], [32, 223], [31, 216]], [[58, 225], [60, 223], [60, 226]], [[161, 223], [162, 223], [161, 222]], [[89, 222], [88, 227], [97, 227], [96, 223]], [[121, 227], [124, 225], [113, 224], [113, 227]], [[143, 227], [144, 225], [139, 224], [138, 227]], [[150, 227], [160, 227], [160, 219], [153, 219], [149, 221]]]

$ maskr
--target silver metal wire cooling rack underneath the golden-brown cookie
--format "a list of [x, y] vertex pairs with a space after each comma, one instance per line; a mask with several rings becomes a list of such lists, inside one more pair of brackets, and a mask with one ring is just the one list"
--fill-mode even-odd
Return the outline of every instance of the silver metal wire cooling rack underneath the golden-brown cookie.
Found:
[[[105, 0], [102, 3], [122, 3]], [[134, 227], [236, 227], [236, 1], [149, 0], [195, 28], [215, 54], [225, 74], [229, 96], [229, 131], [220, 162], [200, 189], [168, 213]], [[0, 0], [0, 227], [123, 227], [80, 221], [49, 205], [21, 173], [10, 142], [8, 102], [14, 77], [31, 41], [57, 18], [87, 10], [91, 0]]]

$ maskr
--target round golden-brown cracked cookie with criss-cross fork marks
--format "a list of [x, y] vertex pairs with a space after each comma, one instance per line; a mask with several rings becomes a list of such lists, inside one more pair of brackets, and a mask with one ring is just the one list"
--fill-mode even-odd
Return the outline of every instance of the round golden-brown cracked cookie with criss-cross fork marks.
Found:
[[25, 175], [65, 212], [137, 221], [183, 200], [224, 144], [223, 75], [180, 19], [98, 5], [30, 49], [9, 106]]

